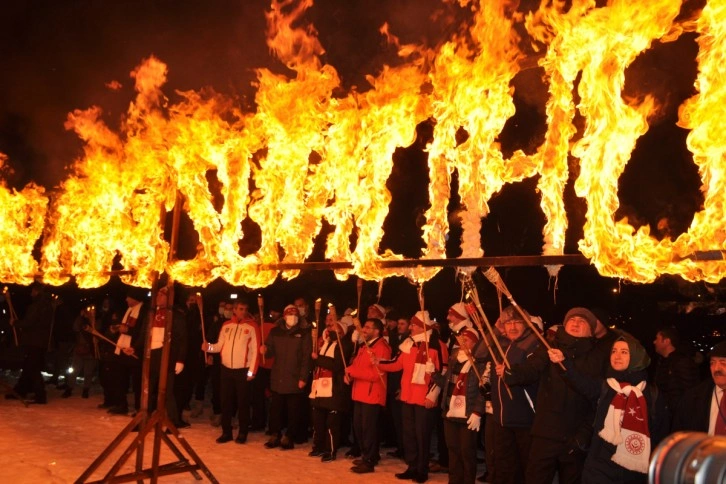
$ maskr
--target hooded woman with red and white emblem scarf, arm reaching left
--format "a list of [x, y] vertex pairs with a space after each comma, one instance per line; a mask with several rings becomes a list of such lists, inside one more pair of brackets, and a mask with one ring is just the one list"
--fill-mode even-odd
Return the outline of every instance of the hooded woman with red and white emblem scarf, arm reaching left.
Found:
[[650, 357], [643, 345], [616, 331], [604, 379], [579, 373], [558, 349], [549, 357], [565, 365], [565, 378], [597, 406], [582, 482], [645, 482], [651, 450], [668, 434], [669, 418], [662, 394], [646, 382]]

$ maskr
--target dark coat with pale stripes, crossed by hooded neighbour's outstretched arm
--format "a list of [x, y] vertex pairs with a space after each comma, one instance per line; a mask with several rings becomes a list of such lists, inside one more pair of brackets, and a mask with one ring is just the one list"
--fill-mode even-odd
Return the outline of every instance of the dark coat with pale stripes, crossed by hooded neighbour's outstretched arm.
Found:
[[[526, 363], [527, 358], [539, 348], [539, 339], [527, 328], [516, 341], [502, 336], [500, 344], [511, 365]], [[509, 396], [504, 382], [496, 372], [491, 375], [493, 415], [502, 427], [528, 428], [534, 422], [534, 403], [537, 401], [538, 381], [511, 385]]]

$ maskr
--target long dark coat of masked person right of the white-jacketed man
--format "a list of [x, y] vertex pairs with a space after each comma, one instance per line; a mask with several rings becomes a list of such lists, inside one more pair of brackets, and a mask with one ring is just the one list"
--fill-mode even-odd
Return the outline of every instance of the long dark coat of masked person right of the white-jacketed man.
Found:
[[302, 393], [298, 382], [307, 382], [312, 368], [313, 343], [310, 328], [298, 323], [288, 328], [284, 321], [270, 330], [265, 356], [274, 357], [270, 389], [279, 394]]

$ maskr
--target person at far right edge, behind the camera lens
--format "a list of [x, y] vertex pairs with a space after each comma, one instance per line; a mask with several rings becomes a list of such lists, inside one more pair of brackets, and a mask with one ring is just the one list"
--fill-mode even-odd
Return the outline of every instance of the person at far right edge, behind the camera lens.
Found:
[[676, 409], [673, 431], [726, 436], [726, 340], [708, 354], [711, 378], [686, 392]]

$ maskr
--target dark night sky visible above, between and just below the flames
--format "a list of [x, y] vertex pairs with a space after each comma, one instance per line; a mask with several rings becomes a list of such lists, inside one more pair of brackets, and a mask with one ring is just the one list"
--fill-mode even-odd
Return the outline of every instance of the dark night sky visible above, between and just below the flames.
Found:
[[[14, 174], [6, 179], [16, 188], [30, 180], [52, 188], [66, 176], [67, 167], [79, 153], [80, 143], [63, 128], [68, 112], [99, 105], [105, 120], [117, 126], [133, 96], [129, 72], [144, 58], [156, 55], [169, 67], [165, 92], [211, 86], [218, 92], [250, 105], [254, 95], [253, 69], [279, 70], [279, 62], [265, 44], [262, 0], [127, 0], [101, 1], [17, 1], [6, 2], [0, 16], [0, 152], [10, 157]], [[522, 1], [520, 10], [539, 2]], [[697, 8], [702, 2], [687, 2]], [[327, 52], [325, 62], [341, 74], [344, 88], [365, 89], [365, 75], [376, 74], [383, 63], [394, 60], [392, 49], [378, 33], [388, 21], [391, 31], [403, 42], [435, 45], [456, 27], [451, 17], [437, 11], [451, 11], [435, 0], [316, 0], [307, 19], [319, 31]], [[441, 10], [443, 9], [443, 10]], [[684, 13], [685, 15], [685, 13]], [[675, 236], [685, 231], [702, 203], [700, 180], [685, 146], [687, 132], [678, 128], [678, 106], [694, 93], [695, 35], [684, 34], [677, 41], [656, 44], [642, 54], [627, 72], [626, 94], [653, 93], [661, 110], [650, 131], [636, 147], [620, 180], [621, 210], [638, 226], [650, 224], [653, 233], [663, 217]], [[520, 73], [514, 80], [516, 115], [501, 134], [505, 156], [516, 149], [533, 152], [541, 143], [546, 126], [546, 85], [539, 68]], [[105, 84], [117, 80], [122, 89]], [[580, 120], [581, 121], [581, 120]], [[582, 123], [580, 122], [580, 127]], [[386, 222], [382, 248], [390, 247], [408, 257], [418, 257], [421, 216], [427, 208], [426, 156], [421, 151], [427, 126], [412, 147], [394, 156], [389, 179], [394, 202]], [[428, 129], [430, 131], [430, 128]], [[572, 180], [566, 189], [571, 227], [566, 252], [575, 253], [582, 233], [585, 206], [574, 196]], [[410, 183], [410, 180], [421, 180]], [[491, 215], [484, 221], [483, 245], [487, 255], [538, 254], [541, 251], [543, 215], [534, 190], [536, 180], [506, 187], [491, 202]], [[455, 207], [452, 207], [452, 209]], [[458, 229], [452, 228], [449, 255], [456, 256]], [[560, 273], [559, 289], [542, 268], [502, 270], [519, 302], [546, 319], [556, 322], [573, 304], [595, 304], [619, 313], [629, 301], [644, 300], [642, 312], [658, 301], [681, 298], [683, 284], [672, 278], [653, 285], [626, 285], [618, 295], [612, 289], [618, 281], [599, 277], [591, 267], [566, 267]], [[343, 298], [353, 305], [355, 282], [340, 284], [332, 275], [307, 273], [290, 283], [280, 284], [280, 299], [288, 294], [318, 292]], [[364, 298], [375, 298], [373, 283], [366, 285]], [[484, 282], [481, 283], [484, 286]], [[688, 293], [706, 292], [702, 284], [688, 285]], [[217, 282], [212, 288], [226, 291]], [[386, 281], [383, 301], [411, 307], [415, 289], [406, 281]], [[486, 291], [490, 300], [493, 291]], [[317, 294], [306, 294], [311, 299]], [[458, 300], [451, 270], [443, 271], [427, 284], [432, 311], [443, 317], [445, 306]], [[686, 298], [687, 299], [687, 298]], [[493, 307], [493, 306], [492, 306]]]

